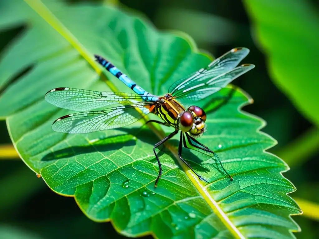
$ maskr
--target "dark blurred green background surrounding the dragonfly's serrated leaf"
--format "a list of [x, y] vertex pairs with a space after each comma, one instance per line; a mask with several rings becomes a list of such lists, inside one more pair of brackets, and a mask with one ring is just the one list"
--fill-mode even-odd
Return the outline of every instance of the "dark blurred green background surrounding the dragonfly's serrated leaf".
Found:
[[[77, 4], [79, 1], [68, 2]], [[304, 215], [293, 217], [302, 229], [296, 237], [318, 238], [319, 77], [315, 66], [319, 62], [319, 2], [105, 2], [123, 4], [141, 12], [158, 29], [183, 31], [200, 49], [215, 57], [234, 47], [250, 49], [244, 63], [255, 64], [256, 68], [234, 84], [254, 99], [254, 104], [244, 110], [266, 120], [267, 126], [262, 131], [278, 141], [269, 151], [280, 156], [291, 168], [284, 173], [297, 188], [290, 196], [304, 211]], [[1, 50], [22, 30], [2, 29], [0, 59]], [[90, 221], [73, 198], [55, 194], [37, 178], [12, 153], [5, 121], [0, 121], [0, 132], [0, 238], [122, 237], [111, 223]]]

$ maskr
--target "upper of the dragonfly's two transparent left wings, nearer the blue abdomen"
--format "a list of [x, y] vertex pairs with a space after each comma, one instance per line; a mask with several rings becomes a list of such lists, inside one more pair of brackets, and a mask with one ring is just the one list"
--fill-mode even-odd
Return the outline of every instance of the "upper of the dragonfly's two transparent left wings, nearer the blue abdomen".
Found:
[[134, 93], [100, 92], [64, 87], [49, 91], [45, 99], [52, 105], [75, 111], [89, 111], [115, 103], [128, 105], [132, 104], [133, 99], [142, 100], [140, 95]]

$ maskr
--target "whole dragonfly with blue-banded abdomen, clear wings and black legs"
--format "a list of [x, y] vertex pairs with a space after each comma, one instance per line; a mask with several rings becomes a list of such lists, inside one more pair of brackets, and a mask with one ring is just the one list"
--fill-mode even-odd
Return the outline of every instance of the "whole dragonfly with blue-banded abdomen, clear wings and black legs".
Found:
[[[206, 113], [196, 105], [191, 105], [186, 109], [182, 102], [189, 104], [189, 102], [210, 97], [237, 77], [253, 69], [255, 67], [253, 64], [238, 66], [248, 54], [248, 48], [234, 48], [215, 59], [207, 67], [174, 82], [164, 96], [153, 95], [145, 91], [112, 63], [99, 55], [94, 55], [95, 60], [100, 65], [135, 93], [101, 92], [68, 87], [50, 90], [45, 95], [45, 99], [49, 103], [60, 108], [80, 111], [58, 118], [53, 122], [52, 129], [56, 132], [69, 134], [91, 133], [125, 127], [142, 119], [146, 114], [153, 113], [161, 120], [148, 120], [146, 123], [153, 122], [174, 128], [174, 132], [156, 143], [153, 148], [159, 166], [155, 187], [157, 187], [162, 175], [162, 166], [155, 149], [179, 131], [178, 156], [200, 180], [209, 183], [184, 160], [182, 157], [183, 146], [213, 155], [220, 163], [224, 174], [232, 181], [233, 177], [225, 170], [218, 155], [196, 139], [204, 133]], [[97, 110], [99, 108], [104, 109]]]

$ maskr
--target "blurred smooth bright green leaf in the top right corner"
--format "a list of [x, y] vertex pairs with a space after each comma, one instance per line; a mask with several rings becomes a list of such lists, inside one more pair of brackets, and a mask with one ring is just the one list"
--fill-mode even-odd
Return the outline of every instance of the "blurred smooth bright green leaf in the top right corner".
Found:
[[277, 87], [319, 126], [319, 18], [309, 1], [244, 1]]

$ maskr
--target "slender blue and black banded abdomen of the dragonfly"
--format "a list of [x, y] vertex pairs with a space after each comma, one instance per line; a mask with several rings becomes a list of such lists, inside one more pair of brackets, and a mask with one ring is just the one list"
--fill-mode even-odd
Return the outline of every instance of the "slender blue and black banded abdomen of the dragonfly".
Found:
[[154, 96], [147, 91], [143, 90], [140, 86], [138, 86], [134, 81], [132, 81], [127, 75], [123, 74], [119, 69], [117, 69], [110, 62], [105, 60], [103, 57], [99, 55], [94, 55], [97, 62], [99, 62], [105, 69], [112, 73], [112, 75], [119, 78], [124, 84], [130, 87], [135, 93], [139, 94], [142, 99], [146, 101], [157, 101], [159, 98]]

